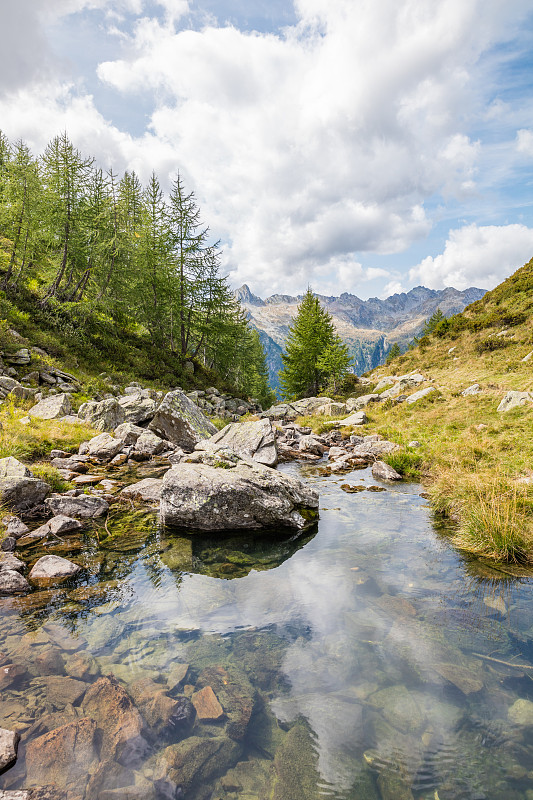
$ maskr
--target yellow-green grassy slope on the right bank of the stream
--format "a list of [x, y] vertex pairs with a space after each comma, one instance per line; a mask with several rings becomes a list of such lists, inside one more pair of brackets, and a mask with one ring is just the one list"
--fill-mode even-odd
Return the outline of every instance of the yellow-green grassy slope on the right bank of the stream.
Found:
[[[368, 428], [402, 445], [387, 461], [422, 475], [433, 508], [457, 522], [457, 544], [499, 560], [533, 561], [533, 485], [521, 482], [533, 476], [533, 405], [496, 411], [508, 390], [533, 392], [533, 357], [522, 361], [532, 350], [533, 259], [444, 335], [370, 376], [416, 370], [439, 389], [411, 406], [370, 405]], [[461, 397], [473, 383], [482, 392]], [[409, 448], [412, 440], [421, 447]]]

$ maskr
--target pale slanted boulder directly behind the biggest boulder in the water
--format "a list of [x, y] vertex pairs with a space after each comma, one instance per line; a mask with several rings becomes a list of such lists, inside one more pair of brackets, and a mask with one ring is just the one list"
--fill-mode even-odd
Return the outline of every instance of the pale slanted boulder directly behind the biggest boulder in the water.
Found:
[[276, 434], [270, 419], [232, 422], [210, 439], [196, 445], [196, 450], [210, 453], [221, 448], [232, 450], [239, 456], [253, 458], [267, 467], [275, 467], [278, 463]]

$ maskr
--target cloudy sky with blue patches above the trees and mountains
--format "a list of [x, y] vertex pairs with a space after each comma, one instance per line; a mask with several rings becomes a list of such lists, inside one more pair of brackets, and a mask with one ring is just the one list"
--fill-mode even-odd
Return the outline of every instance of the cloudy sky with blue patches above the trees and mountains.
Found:
[[232, 286], [490, 289], [533, 256], [531, 0], [0, 0], [0, 129], [180, 172]]

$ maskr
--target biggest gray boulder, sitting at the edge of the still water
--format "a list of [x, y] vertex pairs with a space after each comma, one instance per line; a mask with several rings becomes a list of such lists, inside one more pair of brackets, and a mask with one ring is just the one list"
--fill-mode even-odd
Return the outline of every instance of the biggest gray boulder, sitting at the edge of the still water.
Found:
[[309, 486], [228, 451], [216, 459], [221, 466], [181, 462], [166, 473], [163, 523], [204, 531], [305, 530], [318, 519], [318, 492]]

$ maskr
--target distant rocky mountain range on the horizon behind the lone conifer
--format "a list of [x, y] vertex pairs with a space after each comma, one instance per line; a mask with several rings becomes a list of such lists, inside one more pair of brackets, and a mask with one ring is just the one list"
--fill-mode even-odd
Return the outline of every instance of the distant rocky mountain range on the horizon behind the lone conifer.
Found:
[[[339, 336], [349, 346], [355, 372], [361, 375], [382, 364], [394, 342], [405, 349], [438, 308], [446, 317], [450, 317], [479, 300], [485, 291], [475, 287], [460, 292], [451, 287], [435, 290], [416, 286], [409, 292], [393, 294], [386, 300], [378, 297], [360, 300], [348, 292], [343, 292], [340, 297], [317, 297], [331, 314]], [[250, 324], [259, 332], [266, 353], [270, 384], [278, 389], [281, 353], [302, 295], [273, 294], [263, 300], [253, 294], [246, 284], [237, 290], [236, 295], [246, 309]]]

